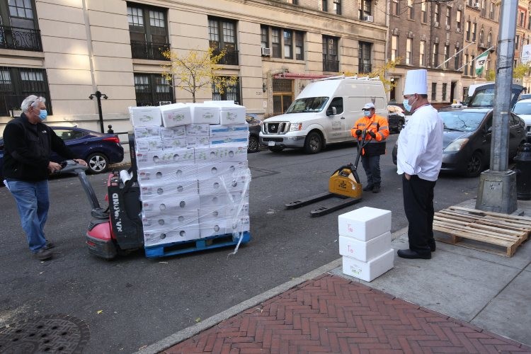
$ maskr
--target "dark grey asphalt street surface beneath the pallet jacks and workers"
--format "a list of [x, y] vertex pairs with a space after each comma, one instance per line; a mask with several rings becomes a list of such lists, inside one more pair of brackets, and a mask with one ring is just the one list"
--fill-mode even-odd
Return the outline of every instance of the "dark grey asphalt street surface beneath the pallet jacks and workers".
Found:
[[[312, 206], [284, 210], [286, 202], [326, 191], [334, 171], [355, 158], [355, 144], [316, 155], [286, 150], [249, 154], [252, 241], [232, 249], [148, 259], [142, 252], [103, 261], [89, 255], [84, 234], [89, 202], [75, 177], [50, 181], [47, 238], [55, 258], [30, 256], [16, 205], [0, 188], [0, 326], [47, 314], [68, 314], [89, 324], [86, 353], [131, 353], [197, 321], [303, 275], [338, 255], [337, 216], [362, 206], [392, 210], [392, 231], [406, 227], [401, 179], [390, 152], [382, 156], [382, 193], [365, 193], [357, 205], [323, 217]], [[360, 177], [365, 173], [360, 166]], [[102, 205], [106, 176], [89, 176]], [[435, 210], [476, 195], [478, 178], [441, 176]]]

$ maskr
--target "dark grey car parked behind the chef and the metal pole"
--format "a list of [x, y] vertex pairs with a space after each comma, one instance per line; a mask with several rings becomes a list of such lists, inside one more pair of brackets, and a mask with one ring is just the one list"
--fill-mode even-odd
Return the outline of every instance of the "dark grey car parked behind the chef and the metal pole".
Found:
[[[440, 110], [444, 122], [442, 135], [441, 171], [462, 173], [464, 176], [478, 176], [489, 166], [492, 138], [491, 108], [447, 108]], [[525, 122], [515, 115], [509, 115], [509, 157], [514, 157], [518, 148], [526, 141]], [[406, 134], [404, 130], [401, 134]], [[397, 145], [392, 157], [396, 164]]]

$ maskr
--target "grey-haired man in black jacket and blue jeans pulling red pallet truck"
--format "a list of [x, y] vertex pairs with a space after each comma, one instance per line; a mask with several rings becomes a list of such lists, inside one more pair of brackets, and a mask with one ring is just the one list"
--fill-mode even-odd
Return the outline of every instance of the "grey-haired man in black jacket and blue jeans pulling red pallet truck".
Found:
[[[61, 165], [50, 161], [50, 155], [54, 151], [65, 159], [76, 157], [52, 128], [42, 123], [47, 117], [45, 101], [35, 95], [25, 98], [23, 113], [4, 130], [4, 183], [15, 198], [30, 251], [40, 261], [52, 258], [50, 249], [54, 247], [44, 234], [50, 207], [48, 174], [59, 171]], [[86, 166], [82, 159], [75, 161]]]

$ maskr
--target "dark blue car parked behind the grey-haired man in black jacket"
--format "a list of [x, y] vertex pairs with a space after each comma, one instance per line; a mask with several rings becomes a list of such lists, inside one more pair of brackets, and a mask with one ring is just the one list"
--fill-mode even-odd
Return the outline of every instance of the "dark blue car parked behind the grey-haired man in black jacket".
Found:
[[[118, 135], [103, 134], [78, 127], [51, 128], [72, 149], [74, 154], [86, 161], [91, 173], [105, 172], [110, 164], [118, 164], [123, 160], [123, 147]], [[61, 162], [64, 159], [52, 152], [52, 161]], [[4, 181], [3, 166], [4, 139], [0, 139], [0, 182]]]

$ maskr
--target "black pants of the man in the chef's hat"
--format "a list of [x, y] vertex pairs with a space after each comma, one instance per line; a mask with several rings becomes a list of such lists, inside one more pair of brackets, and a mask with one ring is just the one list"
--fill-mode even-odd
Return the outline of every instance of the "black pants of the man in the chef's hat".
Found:
[[411, 176], [408, 181], [402, 176], [404, 211], [409, 222], [409, 249], [419, 254], [430, 254], [433, 239], [433, 189], [436, 181], [426, 181]]

